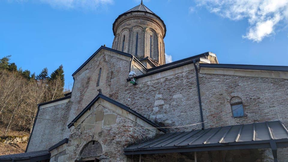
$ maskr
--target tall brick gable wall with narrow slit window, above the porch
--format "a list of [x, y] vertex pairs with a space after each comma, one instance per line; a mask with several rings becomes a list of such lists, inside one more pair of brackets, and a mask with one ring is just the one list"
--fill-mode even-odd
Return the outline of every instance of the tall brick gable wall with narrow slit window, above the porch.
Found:
[[[99, 58], [95, 56], [82, 70], [74, 75], [75, 81], [71, 101], [73, 102], [69, 120], [72, 121], [97, 95], [98, 89], [113, 99], [121, 93], [121, 87], [127, 86], [131, 58], [103, 50]], [[101, 51], [100, 51], [101, 52]], [[98, 54], [100, 55], [100, 53]], [[115, 57], [118, 56], [118, 57]], [[119, 58], [124, 57], [125, 59]], [[97, 86], [99, 69], [101, 68], [100, 83]]]

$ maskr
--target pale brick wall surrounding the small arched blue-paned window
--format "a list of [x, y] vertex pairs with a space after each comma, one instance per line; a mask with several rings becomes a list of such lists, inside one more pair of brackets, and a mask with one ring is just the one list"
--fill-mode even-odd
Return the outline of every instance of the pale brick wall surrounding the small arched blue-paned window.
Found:
[[[288, 80], [200, 73], [199, 82], [206, 128], [275, 120], [288, 127]], [[242, 99], [247, 116], [233, 118], [233, 96]]]

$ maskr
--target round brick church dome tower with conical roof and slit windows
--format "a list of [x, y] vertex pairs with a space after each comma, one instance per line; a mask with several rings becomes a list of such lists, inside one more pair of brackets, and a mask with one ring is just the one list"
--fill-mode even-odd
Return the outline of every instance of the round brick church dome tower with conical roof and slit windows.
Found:
[[113, 34], [113, 49], [138, 59], [149, 57], [156, 65], [165, 64], [166, 26], [142, 1], [115, 19]]

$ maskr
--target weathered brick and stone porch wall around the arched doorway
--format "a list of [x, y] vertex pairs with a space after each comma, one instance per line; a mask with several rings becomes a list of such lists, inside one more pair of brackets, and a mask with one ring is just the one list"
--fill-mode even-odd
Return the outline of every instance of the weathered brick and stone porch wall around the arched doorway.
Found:
[[[138, 129], [141, 128], [139, 124], [114, 113], [102, 105], [93, 106], [90, 112], [90, 115], [83, 121], [84, 123], [91, 121], [97, 125], [103, 124], [113, 127], [86, 125], [84, 128], [83, 125], [78, 125], [76, 128], [72, 128], [72, 133], [66, 147], [66, 154], [64, 155], [67, 161], [80, 160], [80, 153], [85, 154], [81, 151], [83, 146], [95, 140], [102, 146], [103, 152], [99, 157], [101, 162], [126, 162], [129, 157], [124, 155], [123, 149], [125, 147], [151, 139], [156, 135], [148, 129]], [[93, 147], [91, 147], [91, 150], [85, 147], [84, 151], [91, 152], [93, 149]]]

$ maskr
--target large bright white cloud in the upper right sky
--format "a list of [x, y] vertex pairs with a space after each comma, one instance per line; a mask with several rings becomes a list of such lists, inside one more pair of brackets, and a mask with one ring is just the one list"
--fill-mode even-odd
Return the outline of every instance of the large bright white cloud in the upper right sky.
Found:
[[246, 18], [249, 27], [242, 37], [256, 42], [274, 34], [277, 24], [288, 22], [288, 0], [196, 0], [196, 3], [231, 20]]

